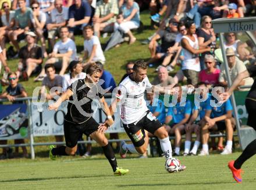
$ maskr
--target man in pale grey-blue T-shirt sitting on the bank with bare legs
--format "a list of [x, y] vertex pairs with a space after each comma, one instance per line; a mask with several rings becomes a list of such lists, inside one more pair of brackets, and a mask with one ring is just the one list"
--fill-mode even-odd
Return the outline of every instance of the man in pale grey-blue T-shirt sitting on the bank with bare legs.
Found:
[[[49, 54], [49, 59], [45, 64], [54, 64], [55, 68], [60, 69], [59, 74], [63, 76], [69, 62], [76, 59], [76, 44], [69, 37], [69, 29], [66, 26], [61, 27], [61, 40], [56, 42], [54, 50]], [[45, 70], [35, 78], [35, 81], [40, 81], [44, 78]]]

